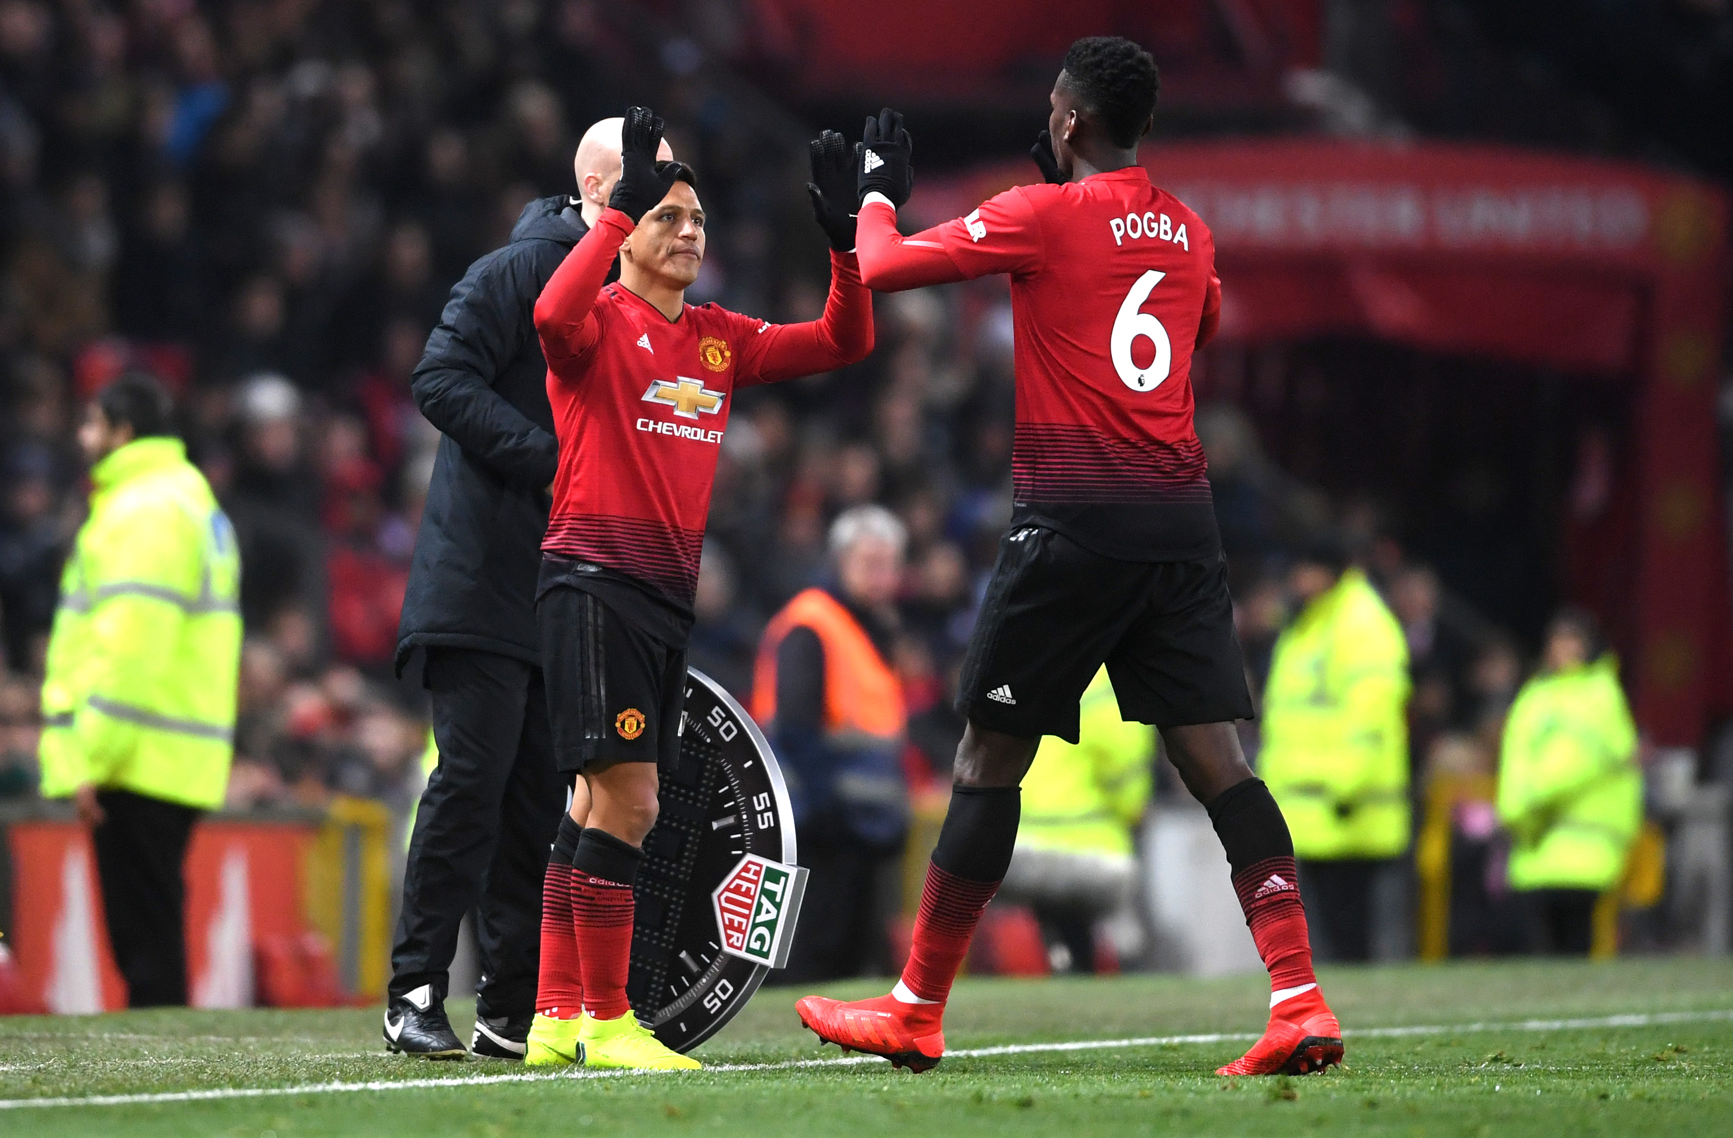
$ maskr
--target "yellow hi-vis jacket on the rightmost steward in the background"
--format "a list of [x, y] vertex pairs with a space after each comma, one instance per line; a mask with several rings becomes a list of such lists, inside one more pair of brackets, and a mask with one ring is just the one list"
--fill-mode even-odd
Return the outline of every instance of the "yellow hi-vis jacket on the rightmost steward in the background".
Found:
[[1515, 838], [1511, 889], [1619, 883], [1643, 826], [1643, 776], [1612, 653], [1523, 684], [1504, 721], [1497, 809]]

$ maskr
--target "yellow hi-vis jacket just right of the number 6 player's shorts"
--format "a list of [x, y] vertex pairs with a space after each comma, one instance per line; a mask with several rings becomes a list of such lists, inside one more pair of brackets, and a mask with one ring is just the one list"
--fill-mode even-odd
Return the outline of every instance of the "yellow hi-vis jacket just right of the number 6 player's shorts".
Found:
[[1407, 639], [1360, 570], [1282, 630], [1263, 688], [1258, 774], [1305, 859], [1409, 845]]

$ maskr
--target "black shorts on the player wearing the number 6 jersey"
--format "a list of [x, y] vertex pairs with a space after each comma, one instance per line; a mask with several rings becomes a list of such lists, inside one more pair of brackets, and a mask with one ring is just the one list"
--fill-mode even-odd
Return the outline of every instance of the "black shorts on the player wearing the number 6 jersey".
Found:
[[1120, 561], [1045, 527], [1005, 533], [957, 708], [988, 731], [1076, 743], [1078, 700], [1102, 663], [1128, 721], [1249, 719], [1227, 558]]

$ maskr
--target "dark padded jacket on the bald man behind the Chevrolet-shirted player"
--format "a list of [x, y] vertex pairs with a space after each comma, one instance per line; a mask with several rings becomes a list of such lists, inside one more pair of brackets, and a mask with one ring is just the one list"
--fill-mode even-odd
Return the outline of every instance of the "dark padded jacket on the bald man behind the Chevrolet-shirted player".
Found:
[[560, 443], [535, 298], [584, 236], [570, 197], [523, 206], [511, 242], [470, 265], [411, 379], [444, 438], [397, 629], [416, 648], [475, 648], [541, 663], [535, 575]]

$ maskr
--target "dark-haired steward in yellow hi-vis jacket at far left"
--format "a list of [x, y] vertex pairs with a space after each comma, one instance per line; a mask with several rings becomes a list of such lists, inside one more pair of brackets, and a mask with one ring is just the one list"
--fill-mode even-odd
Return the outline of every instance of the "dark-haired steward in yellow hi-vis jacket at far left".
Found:
[[42, 793], [94, 824], [114, 961], [132, 1006], [187, 1001], [182, 859], [222, 805], [241, 669], [229, 518], [147, 376], [92, 404], [78, 440], [90, 518], [61, 577], [42, 686]]

